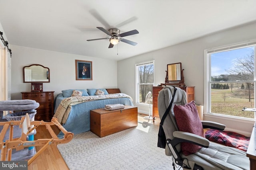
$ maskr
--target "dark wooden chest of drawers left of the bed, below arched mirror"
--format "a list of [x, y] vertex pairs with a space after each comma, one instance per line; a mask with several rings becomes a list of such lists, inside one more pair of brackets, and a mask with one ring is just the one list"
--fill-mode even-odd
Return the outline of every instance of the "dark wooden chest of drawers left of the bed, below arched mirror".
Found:
[[22, 99], [36, 100], [36, 121], [51, 121], [54, 112], [54, 92], [21, 92]]

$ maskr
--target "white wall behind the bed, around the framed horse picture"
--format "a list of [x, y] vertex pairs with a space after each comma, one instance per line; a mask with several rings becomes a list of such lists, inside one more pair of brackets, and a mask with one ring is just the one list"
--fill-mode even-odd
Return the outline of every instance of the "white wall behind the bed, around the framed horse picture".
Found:
[[[76, 80], [76, 59], [92, 61], [92, 80]], [[22, 76], [22, 68], [30, 64], [50, 68], [50, 83], [43, 83], [43, 90], [55, 91], [54, 96], [66, 89], [117, 88], [116, 61], [12, 45], [12, 100], [31, 90]]]

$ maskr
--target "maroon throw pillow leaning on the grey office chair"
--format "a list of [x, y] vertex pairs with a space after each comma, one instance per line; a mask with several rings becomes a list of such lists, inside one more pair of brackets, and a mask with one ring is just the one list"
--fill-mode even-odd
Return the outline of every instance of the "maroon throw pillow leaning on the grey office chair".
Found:
[[[201, 137], [205, 137], [202, 122], [198, 116], [198, 111], [194, 101], [183, 106], [174, 105], [173, 111], [180, 131], [189, 132]], [[181, 143], [181, 150], [186, 156], [197, 152], [201, 148], [202, 147], [193, 145], [192, 143]]]

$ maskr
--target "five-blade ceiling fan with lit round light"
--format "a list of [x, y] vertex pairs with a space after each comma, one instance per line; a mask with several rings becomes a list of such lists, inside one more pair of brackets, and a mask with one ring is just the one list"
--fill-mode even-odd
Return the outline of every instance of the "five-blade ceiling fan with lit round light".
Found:
[[95, 40], [100, 40], [100, 39], [109, 39], [110, 44], [109, 44], [108, 48], [114, 47], [114, 45], [118, 44], [119, 41], [122, 41], [122, 42], [130, 44], [130, 45], [134, 45], [134, 46], [137, 45], [137, 43], [135, 43], [133, 41], [122, 38], [122, 37], [126, 37], [126, 36], [129, 36], [129, 35], [138, 34], [139, 32], [136, 29], [120, 34], [120, 29], [117, 29], [117, 28], [110, 28], [110, 29], [108, 29], [108, 31], [106, 29], [102, 28], [102, 27], [97, 27], [97, 28], [100, 29], [100, 31], [103, 31], [104, 33], [110, 35], [111, 37], [110, 38], [88, 39], [87, 41], [95, 41]]

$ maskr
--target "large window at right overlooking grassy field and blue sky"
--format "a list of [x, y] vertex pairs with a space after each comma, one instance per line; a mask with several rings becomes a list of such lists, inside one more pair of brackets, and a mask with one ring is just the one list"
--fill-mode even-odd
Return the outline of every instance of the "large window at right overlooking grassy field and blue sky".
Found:
[[256, 41], [206, 50], [207, 113], [254, 119]]

